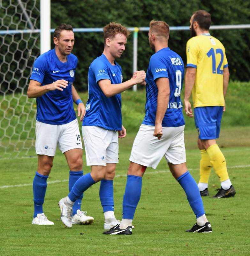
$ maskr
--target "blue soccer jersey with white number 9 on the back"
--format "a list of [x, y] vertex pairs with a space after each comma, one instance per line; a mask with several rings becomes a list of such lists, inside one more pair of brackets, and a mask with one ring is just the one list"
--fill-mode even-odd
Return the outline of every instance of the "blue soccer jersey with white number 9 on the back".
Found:
[[164, 127], [178, 127], [185, 124], [182, 114], [180, 93], [184, 77], [184, 64], [181, 57], [168, 47], [151, 56], [146, 76], [146, 115], [142, 124], [155, 125], [158, 88], [155, 79], [169, 79], [169, 104], [162, 121]]

